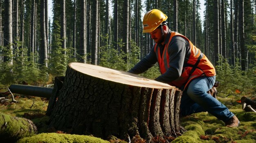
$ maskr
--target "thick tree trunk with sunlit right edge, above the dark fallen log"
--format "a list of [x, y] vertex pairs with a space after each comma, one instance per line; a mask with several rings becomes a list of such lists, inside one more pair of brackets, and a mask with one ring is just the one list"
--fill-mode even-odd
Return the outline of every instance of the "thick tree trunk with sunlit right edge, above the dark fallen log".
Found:
[[41, 30], [40, 30], [40, 35], [41, 35], [41, 37], [40, 37], [40, 40], [41, 40], [41, 42], [40, 42], [40, 44], [41, 44], [41, 46], [40, 46], [40, 64], [41, 65], [44, 65], [44, 66], [46, 66], [46, 67], [48, 67], [48, 65], [47, 65], [47, 40], [46, 40], [46, 31], [48, 30], [46, 30], [45, 28], [46, 28], [46, 26], [45, 26], [45, 0], [41, 0], [40, 1], [41, 2], [41, 9], [40, 9], [40, 23], [41, 23], [41, 25], [40, 25], [40, 28], [41, 28]]

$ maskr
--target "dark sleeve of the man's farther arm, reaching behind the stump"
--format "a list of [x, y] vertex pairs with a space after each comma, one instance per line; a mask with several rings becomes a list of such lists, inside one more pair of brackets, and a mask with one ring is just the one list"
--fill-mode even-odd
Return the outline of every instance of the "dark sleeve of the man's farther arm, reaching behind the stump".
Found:
[[146, 70], [154, 66], [154, 64], [157, 62], [157, 56], [155, 55], [154, 46], [151, 49], [151, 51], [141, 59], [133, 68], [131, 68], [128, 73], [133, 74], [141, 74], [144, 73]]

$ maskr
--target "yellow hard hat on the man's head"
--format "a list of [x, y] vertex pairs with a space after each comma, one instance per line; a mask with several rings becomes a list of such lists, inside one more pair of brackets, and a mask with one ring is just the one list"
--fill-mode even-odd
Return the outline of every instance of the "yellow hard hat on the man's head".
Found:
[[143, 18], [142, 33], [150, 33], [154, 31], [162, 22], [166, 21], [168, 17], [158, 9], [152, 9], [145, 13]]

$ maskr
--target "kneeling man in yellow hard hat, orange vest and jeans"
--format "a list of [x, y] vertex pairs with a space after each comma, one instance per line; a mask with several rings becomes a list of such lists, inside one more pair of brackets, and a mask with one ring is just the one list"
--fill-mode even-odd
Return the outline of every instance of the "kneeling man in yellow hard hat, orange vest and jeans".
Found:
[[227, 127], [238, 127], [240, 122], [237, 117], [207, 93], [215, 83], [215, 68], [185, 36], [168, 28], [167, 18], [158, 9], [144, 15], [143, 33], [150, 33], [155, 44], [150, 53], [128, 72], [140, 74], [158, 62], [162, 75], [155, 80], [183, 90], [182, 116], [208, 111], [224, 121]]

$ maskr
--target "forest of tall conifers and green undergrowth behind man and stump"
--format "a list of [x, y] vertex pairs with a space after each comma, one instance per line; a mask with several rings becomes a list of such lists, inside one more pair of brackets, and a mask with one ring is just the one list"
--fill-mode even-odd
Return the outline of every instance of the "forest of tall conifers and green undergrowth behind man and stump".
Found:
[[[108, 0], [52, 0], [51, 22], [47, 0], [1, 0], [0, 86], [51, 84], [70, 62], [129, 70], [154, 44], [141, 33], [144, 8], [166, 13], [171, 30], [209, 58], [222, 83], [219, 92], [255, 93], [255, 0], [205, 0], [203, 18], [199, 0], [141, 2], [112, 0], [110, 14]], [[156, 65], [141, 75], [159, 74]]]

